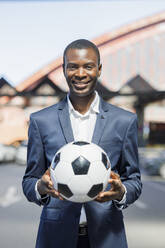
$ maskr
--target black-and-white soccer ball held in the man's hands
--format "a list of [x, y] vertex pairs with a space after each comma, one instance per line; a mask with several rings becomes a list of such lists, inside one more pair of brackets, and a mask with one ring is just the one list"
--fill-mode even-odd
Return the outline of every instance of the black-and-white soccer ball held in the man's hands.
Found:
[[88, 202], [104, 191], [111, 164], [104, 150], [84, 141], [64, 145], [55, 154], [50, 175], [54, 188], [72, 202]]

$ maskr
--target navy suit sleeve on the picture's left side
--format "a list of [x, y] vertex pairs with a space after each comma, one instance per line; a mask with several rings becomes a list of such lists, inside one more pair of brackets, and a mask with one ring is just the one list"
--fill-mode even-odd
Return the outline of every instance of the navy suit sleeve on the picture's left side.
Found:
[[41, 205], [42, 202], [37, 199], [35, 185], [46, 169], [44, 148], [39, 128], [37, 122], [31, 116], [28, 131], [27, 167], [23, 177], [22, 187], [26, 198], [38, 205]]

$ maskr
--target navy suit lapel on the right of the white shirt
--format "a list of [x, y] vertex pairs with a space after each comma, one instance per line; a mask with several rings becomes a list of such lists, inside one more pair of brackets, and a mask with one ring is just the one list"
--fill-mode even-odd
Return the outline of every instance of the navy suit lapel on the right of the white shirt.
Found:
[[95, 144], [99, 143], [105, 128], [105, 124], [107, 122], [108, 105], [102, 100], [102, 98], [100, 98], [99, 110], [100, 112], [97, 115], [96, 125], [92, 137], [92, 142]]

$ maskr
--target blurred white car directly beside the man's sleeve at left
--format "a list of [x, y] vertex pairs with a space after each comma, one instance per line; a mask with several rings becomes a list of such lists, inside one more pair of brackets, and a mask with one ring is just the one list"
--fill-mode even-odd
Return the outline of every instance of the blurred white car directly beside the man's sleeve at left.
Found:
[[20, 146], [16, 149], [15, 162], [19, 165], [26, 165], [27, 159], [27, 140], [20, 143]]

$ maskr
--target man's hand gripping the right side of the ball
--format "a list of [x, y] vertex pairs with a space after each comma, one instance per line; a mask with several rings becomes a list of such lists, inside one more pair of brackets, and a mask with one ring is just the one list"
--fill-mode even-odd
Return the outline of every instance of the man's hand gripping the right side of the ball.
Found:
[[122, 200], [125, 193], [125, 188], [119, 175], [111, 171], [111, 179], [109, 179], [108, 183], [111, 184], [111, 189], [109, 191], [100, 192], [95, 201], [106, 202], [111, 200]]

